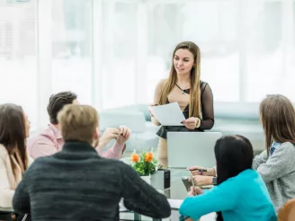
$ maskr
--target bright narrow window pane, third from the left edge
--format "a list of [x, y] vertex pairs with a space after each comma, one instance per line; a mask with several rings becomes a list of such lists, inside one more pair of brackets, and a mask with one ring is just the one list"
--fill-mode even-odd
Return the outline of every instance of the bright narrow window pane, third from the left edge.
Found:
[[103, 108], [136, 102], [138, 5], [103, 1]]

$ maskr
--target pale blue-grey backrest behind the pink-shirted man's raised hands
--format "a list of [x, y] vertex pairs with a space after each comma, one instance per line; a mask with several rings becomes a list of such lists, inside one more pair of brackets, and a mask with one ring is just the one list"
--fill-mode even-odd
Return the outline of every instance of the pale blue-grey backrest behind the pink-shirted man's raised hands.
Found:
[[116, 110], [105, 110], [99, 114], [99, 128], [119, 128], [127, 126], [133, 133], [143, 133], [146, 130], [146, 119], [143, 112], [123, 112]]

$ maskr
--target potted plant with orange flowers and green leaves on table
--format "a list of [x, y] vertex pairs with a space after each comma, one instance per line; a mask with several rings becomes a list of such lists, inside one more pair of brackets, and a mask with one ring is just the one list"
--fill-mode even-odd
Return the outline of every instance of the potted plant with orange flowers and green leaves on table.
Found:
[[153, 151], [142, 152], [138, 155], [135, 150], [131, 154], [131, 166], [139, 173], [140, 177], [150, 184], [150, 175], [156, 172], [157, 161]]

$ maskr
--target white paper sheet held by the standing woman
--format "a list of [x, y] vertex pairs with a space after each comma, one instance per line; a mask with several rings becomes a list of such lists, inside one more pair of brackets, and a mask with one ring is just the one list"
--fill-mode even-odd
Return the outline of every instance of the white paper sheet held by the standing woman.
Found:
[[149, 110], [163, 126], [183, 126], [181, 122], [185, 118], [177, 102], [151, 106]]

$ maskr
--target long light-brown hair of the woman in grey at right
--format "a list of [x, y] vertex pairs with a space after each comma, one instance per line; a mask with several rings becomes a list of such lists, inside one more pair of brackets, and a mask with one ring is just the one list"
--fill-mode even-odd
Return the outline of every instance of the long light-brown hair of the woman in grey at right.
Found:
[[267, 153], [273, 141], [295, 143], [295, 110], [291, 101], [281, 95], [267, 95], [260, 104]]

